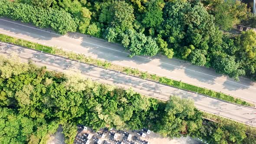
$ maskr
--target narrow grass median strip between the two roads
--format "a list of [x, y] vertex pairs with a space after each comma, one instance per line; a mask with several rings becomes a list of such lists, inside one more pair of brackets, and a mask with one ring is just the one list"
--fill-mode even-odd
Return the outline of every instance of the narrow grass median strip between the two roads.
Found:
[[5, 42], [5, 43], [12, 43], [12, 44], [15, 44], [18, 46], [27, 47], [30, 49], [40, 50], [40, 51], [55, 54], [58, 56], [63, 56], [63, 57], [69, 58], [69, 59], [78, 60], [80, 62], [85, 62], [85, 63], [91, 64], [91, 65], [97, 65], [97, 66], [103, 67], [105, 69], [112, 69], [115, 71], [124, 72], [128, 75], [138, 76], [138, 77], [141, 77], [142, 79], [148, 79], [148, 80], [152, 80], [155, 82], [159, 82], [161, 84], [170, 85], [170, 86], [173, 86], [176, 88], [184, 89], [187, 91], [197, 92], [199, 94], [207, 95], [207, 96], [210, 96], [213, 98], [218, 98], [218, 99], [221, 99], [224, 101], [229, 101], [229, 102], [232, 102], [235, 104], [254, 106], [254, 104], [252, 104], [252, 103], [243, 101], [240, 98], [234, 98], [230, 95], [223, 94], [222, 92], [215, 92], [215, 91], [209, 90], [207, 88], [201, 88], [201, 87], [198, 87], [195, 85], [190, 85], [190, 84], [187, 84], [187, 83], [184, 83], [181, 81], [168, 79], [166, 77], [161, 77], [161, 76], [158, 76], [155, 74], [149, 74], [148, 72], [142, 72], [142, 71], [139, 71], [138, 69], [115, 65], [115, 64], [112, 64], [111, 62], [102, 61], [100, 59], [95, 59], [90, 56], [85, 56], [83, 54], [67, 52], [62, 49], [58, 49], [56, 47], [44, 46], [44, 45], [41, 45], [38, 43], [33, 43], [30, 41], [14, 38], [14, 37], [3, 35], [3, 34], [0, 34], [0, 41]]

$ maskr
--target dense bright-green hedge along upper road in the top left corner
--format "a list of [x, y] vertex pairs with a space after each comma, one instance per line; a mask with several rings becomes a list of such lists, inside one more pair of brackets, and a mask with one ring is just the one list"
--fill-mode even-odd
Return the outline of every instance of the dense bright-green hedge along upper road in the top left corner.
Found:
[[0, 16], [7, 16], [24, 23], [33, 23], [42, 28], [51, 27], [60, 34], [75, 32], [77, 24], [69, 13], [52, 8], [43, 9], [28, 4], [0, 0]]

